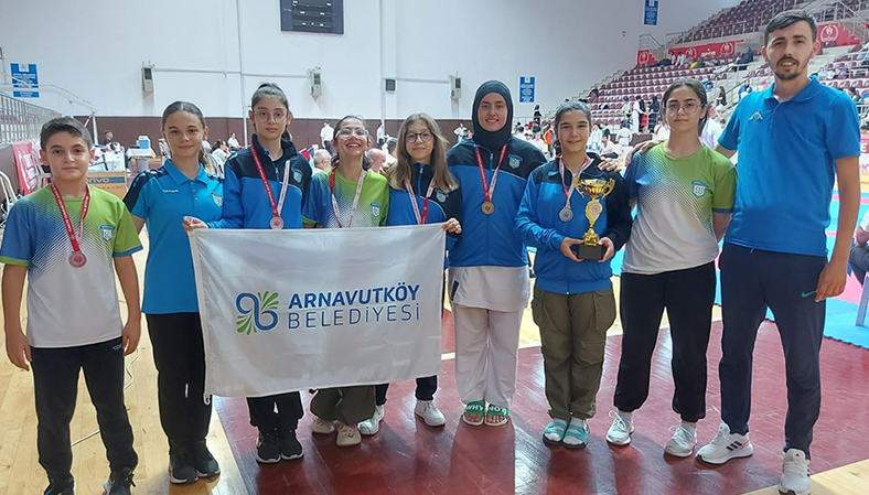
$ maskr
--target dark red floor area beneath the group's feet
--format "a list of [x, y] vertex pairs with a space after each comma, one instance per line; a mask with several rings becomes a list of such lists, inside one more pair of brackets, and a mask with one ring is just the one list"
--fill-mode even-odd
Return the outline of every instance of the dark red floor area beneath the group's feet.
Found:
[[[700, 442], [718, 428], [717, 363], [721, 324], [714, 326], [709, 349], [709, 413], [698, 427]], [[521, 351], [513, 423], [472, 428], [459, 420], [453, 362], [444, 362], [437, 402], [447, 415], [441, 429], [426, 427], [412, 415], [414, 383], [389, 389], [380, 432], [361, 448], [339, 449], [334, 435], [312, 437], [311, 416], [299, 428], [305, 455], [301, 461], [257, 465], [256, 431], [248, 424], [244, 399], [217, 399], [233, 452], [250, 494], [740, 494], [777, 483], [784, 417], [784, 361], [772, 323], [761, 329], [754, 355], [754, 455], [719, 467], [694, 458], [665, 458], [663, 445], [678, 421], [670, 410], [669, 336], [662, 332], [654, 362], [652, 391], [635, 415], [633, 443], [616, 449], [603, 439], [610, 419], [621, 337], [607, 346], [604, 379], [591, 440], [582, 451], [550, 449], [540, 441], [548, 422], [543, 391], [543, 359], [537, 348]], [[869, 351], [825, 340], [824, 396], [815, 429], [812, 471], [820, 472], [869, 456], [857, 438], [869, 423]], [[310, 396], [305, 392], [304, 400]], [[843, 435], [846, 437], [843, 437]]]

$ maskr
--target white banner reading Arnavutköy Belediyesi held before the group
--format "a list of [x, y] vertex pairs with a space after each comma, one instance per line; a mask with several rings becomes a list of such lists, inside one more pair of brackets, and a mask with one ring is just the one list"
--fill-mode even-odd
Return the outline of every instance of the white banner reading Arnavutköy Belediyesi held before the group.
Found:
[[259, 397], [440, 370], [444, 233], [199, 229], [205, 394]]

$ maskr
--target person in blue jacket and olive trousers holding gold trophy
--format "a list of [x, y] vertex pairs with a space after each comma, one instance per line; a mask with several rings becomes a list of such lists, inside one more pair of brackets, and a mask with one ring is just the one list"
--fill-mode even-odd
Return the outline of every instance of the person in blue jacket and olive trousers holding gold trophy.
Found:
[[[632, 224], [622, 176], [601, 171], [600, 157], [586, 153], [590, 125], [587, 105], [568, 101], [558, 107], [555, 128], [562, 154], [532, 173], [516, 216], [522, 239], [537, 248], [532, 312], [540, 327], [552, 418], [544, 442], [573, 449], [588, 442], [607, 330], [615, 320], [610, 260], [630, 237]], [[575, 179], [612, 184], [610, 194], [597, 200], [603, 206], [593, 226], [605, 248], [600, 260], [579, 260], [571, 250], [582, 244], [590, 224], [587, 212], [596, 202], [577, 192]]]

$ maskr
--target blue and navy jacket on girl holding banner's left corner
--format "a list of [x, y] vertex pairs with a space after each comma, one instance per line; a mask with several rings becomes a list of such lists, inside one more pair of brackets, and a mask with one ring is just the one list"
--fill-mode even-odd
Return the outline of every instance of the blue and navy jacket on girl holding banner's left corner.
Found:
[[296, 151], [296, 146], [291, 141], [285, 139], [281, 146], [283, 155], [277, 163], [272, 162], [266, 150], [259, 146], [256, 134], [250, 148], [229, 157], [224, 165], [223, 218], [210, 222], [210, 227], [269, 228], [269, 220], [272, 217], [271, 204], [254, 157], [250, 154], [256, 150], [271, 186], [276, 205], [283, 186], [285, 168], [290, 166], [287, 198], [280, 215], [283, 218], [283, 228], [302, 228], [302, 204], [311, 183], [311, 165]]

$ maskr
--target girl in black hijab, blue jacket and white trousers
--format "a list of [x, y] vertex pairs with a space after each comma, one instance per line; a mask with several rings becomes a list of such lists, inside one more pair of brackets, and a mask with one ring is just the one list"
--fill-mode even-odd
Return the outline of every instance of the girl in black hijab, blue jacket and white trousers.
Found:
[[513, 99], [504, 83], [476, 90], [473, 138], [447, 153], [462, 190], [462, 237], [449, 254], [455, 324], [455, 380], [462, 420], [501, 427], [516, 389], [522, 315], [529, 297], [528, 256], [515, 218], [530, 172], [544, 154], [511, 136]]

